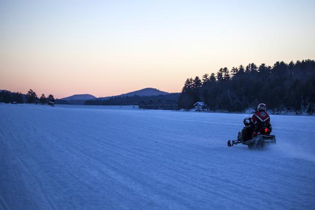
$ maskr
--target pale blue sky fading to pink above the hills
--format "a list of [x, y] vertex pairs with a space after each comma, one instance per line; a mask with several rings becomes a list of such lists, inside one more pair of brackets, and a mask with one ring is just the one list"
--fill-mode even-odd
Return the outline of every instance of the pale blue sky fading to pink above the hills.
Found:
[[315, 59], [315, 0], [0, 0], [0, 90], [62, 98]]

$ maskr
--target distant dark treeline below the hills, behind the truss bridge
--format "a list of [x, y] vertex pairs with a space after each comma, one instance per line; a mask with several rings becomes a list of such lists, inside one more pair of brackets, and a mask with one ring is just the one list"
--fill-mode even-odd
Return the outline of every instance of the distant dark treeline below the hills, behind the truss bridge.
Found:
[[153, 95], [153, 96], [117, 96], [112, 97], [106, 100], [101, 99], [92, 99], [87, 100], [85, 105], [139, 105], [141, 101], [144, 100], [157, 100], [157, 99], [165, 99], [165, 100], [175, 100], [178, 101], [180, 94], [179, 93], [170, 93], [166, 95]]

